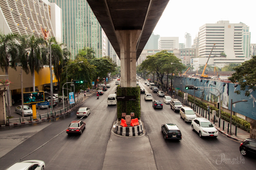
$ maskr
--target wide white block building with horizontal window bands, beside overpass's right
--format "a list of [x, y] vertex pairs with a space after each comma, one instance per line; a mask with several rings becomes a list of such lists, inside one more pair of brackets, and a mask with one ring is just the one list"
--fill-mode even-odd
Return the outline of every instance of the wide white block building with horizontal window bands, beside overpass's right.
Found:
[[160, 37], [158, 39], [158, 49], [178, 49], [179, 37]]

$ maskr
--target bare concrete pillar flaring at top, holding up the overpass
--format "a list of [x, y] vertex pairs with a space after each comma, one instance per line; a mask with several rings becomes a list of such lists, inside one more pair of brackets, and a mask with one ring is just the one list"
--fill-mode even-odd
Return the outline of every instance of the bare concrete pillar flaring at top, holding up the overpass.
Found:
[[136, 87], [136, 46], [141, 30], [115, 31], [120, 45], [121, 87]]

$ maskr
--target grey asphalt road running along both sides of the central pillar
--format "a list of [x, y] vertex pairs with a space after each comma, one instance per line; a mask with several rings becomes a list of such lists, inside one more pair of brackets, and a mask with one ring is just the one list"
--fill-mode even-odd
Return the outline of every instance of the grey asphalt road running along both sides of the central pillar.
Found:
[[[144, 80], [139, 81], [141, 88], [153, 95], [153, 100], [163, 101], [152, 93]], [[82, 119], [86, 122], [86, 129], [81, 135], [61, 133], [71, 121], [78, 120], [78, 108], [55, 122], [8, 127], [9, 130], [1, 128], [0, 153], [6, 149], [8, 152], [0, 155], [0, 169], [7, 168], [59, 133], [23, 160], [43, 160], [46, 169], [255, 169], [255, 158], [240, 158], [240, 143], [221, 134], [217, 138], [200, 138], [191, 130], [191, 124], [180, 119], [179, 113], [173, 112], [168, 104], [163, 103], [163, 109], [153, 109], [152, 101], [145, 101], [143, 94], [141, 120], [146, 135], [135, 138], [116, 136], [112, 133], [117, 119], [116, 106], [107, 106], [106, 103], [108, 94], [114, 93], [114, 83], [110, 83], [111, 88], [104, 91], [98, 100], [93, 95], [80, 105], [91, 108], [91, 114]], [[164, 123], [177, 124], [183, 139], [164, 140], [161, 133]], [[8, 135], [8, 132], [16, 135]]]

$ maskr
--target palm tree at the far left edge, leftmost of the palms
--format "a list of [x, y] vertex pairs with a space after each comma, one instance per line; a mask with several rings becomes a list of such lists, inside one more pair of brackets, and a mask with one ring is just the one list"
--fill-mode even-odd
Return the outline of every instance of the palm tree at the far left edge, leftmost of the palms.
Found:
[[[18, 61], [18, 44], [15, 42], [17, 34], [4, 35], [0, 33], [0, 68], [5, 70], [5, 75], [8, 75], [8, 68], [11, 66], [16, 70], [16, 62]], [[10, 65], [9, 65], [10, 63]], [[7, 77], [8, 79], [9, 77]], [[7, 116], [10, 117], [10, 90], [7, 90]]]

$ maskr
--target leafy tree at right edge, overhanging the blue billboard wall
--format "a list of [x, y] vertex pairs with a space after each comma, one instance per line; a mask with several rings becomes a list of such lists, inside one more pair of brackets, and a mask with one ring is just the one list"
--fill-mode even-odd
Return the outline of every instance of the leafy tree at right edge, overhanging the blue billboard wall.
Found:
[[252, 59], [244, 61], [240, 66], [233, 67], [236, 71], [232, 76], [228, 77], [232, 83], [238, 83], [240, 90], [234, 91], [237, 94], [241, 94], [241, 90], [248, 90], [245, 92], [245, 96], [249, 96], [250, 93], [256, 90], [256, 56]]

